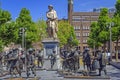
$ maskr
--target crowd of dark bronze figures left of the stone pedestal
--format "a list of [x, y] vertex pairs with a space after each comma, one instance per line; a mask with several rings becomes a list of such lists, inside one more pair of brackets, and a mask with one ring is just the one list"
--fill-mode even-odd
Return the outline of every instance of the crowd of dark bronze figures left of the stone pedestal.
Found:
[[7, 52], [1, 53], [0, 55], [0, 65], [6, 68], [11, 77], [14, 75], [16, 76], [17, 74], [21, 77], [23, 71], [26, 72], [27, 77], [30, 76], [31, 71], [32, 74], [36, 76], [36, 60], [38, 62], [38, 67], [40, 63], [42, 66], [42, 56], [40, 56], [40, 50], [30, 48], [27, 51], [23, 51], [18, 48], [14, 48]]

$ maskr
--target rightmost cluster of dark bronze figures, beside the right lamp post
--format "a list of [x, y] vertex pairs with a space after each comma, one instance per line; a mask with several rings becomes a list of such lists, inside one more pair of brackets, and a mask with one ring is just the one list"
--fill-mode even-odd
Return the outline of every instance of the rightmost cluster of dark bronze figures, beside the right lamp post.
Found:
[[106, 65], [108, 62], [107, 52], [96, 50], [94, 55], [90, 55], [89, 49], [86, 48], [83, 52], [83, 65], [85, 69], [85, 65], [87, 67], [87, 71], [90, 73], [91, 71], [98, 70], [98, 76], [101, 76], [101, 71], [104, 71], [104, 75], [107, 75]]

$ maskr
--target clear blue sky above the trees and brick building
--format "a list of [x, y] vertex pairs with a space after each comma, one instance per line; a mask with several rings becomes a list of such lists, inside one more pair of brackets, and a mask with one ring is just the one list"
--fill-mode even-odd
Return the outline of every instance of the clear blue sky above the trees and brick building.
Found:
[[[48, 5], [52, 4], [57, 11], [58, 18], [67, 18], [67, 1], [68, 0], [0, 0], [1, 7], [8, 10], [12, 19], [19, 16], [22, 8], [30, 10], [32, 19], [37, 21], [43, 17], [46, 19]], [[74, 0], [74, 12], [92, 11], [93, 8], [113, 8], [116, 0]]]

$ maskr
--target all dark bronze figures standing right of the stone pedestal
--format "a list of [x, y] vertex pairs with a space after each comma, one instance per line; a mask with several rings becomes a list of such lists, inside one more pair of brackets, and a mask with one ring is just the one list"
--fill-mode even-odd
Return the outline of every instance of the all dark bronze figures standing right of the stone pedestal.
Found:
[[[90, 76], [93, 71], [98, 74], [97, 76], [101, 76], [101, 72], [104, 71], [104, 75], [107, 75], [106, 65], [109, 60], [106, 51], [96, 50], [95, 55], [90, 54], [90, 50], [85, 48], [81, 53], [78, 49], [74, 51], [61, 51], [60, 53], [62, 60], [62, 69], [71, 71], [71, 72], [79, 72], [80, 67], [83, 69], [84, 76]], [[80, 64], [80, 57], [82, 57], [83, 65]], [[87, 72], [84, 74], [84, 72]]]

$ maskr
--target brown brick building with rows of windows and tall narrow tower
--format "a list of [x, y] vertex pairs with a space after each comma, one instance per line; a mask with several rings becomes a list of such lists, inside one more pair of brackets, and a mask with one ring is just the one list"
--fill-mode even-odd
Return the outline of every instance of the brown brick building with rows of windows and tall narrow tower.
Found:
[[[75, 34], [79, 40], [79, 49], [83, 51], [87, 45], [87, 39], [90, 33], [90, 25], [97, 22], [101, 9], [93, 9], [93, 12], [74, 12], [73, 0], [68, 0], [68, 21], [74, 27]], [[114, 9], [111, 9], [111, 11]], [[109, 14], [110, 16], [113, 13]]]

